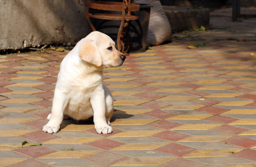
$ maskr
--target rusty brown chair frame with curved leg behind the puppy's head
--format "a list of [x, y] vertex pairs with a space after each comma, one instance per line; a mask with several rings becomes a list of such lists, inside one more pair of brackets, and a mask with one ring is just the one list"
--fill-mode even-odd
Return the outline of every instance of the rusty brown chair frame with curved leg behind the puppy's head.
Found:
[[[110, 14], [110, 13], [89, 13], [89, 9], [97, 9], [103, 11], [121, 11], [122, 14]], [[111, 19], [111, 20], [120, 20], [120, 28], [117, 33], [117, 50], [122, 53], [127, 53], [129, 50], [129, 41], [124, 39], [125, 31], [129, 25], [130, 20], [139, 19], [138, 16], [131, 15], [131, 12], [139, 11], [140, 5], [134, 4], [134, 0], [123, 0], [123, 2], [102, 2], [102, 1], [90, 1], [87, 0], [86, 8], [86, 19], [89, 22], [93, 31], [96, 31], [93, 26], [90, 17], [98, 19]]]

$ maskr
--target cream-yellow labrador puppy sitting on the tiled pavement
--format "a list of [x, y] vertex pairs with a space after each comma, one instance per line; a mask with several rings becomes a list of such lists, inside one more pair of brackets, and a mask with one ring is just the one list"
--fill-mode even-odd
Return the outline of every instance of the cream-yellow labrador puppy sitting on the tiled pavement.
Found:
[[98, 134], [110, 134], [113, 98], [103, 86], [103, 68], [118, 67], [125, 56], [115, 42], [101, 32], [91, 32], [80, 40], [60, 64], [53, 108], [43, 131], [58, 132], [64, 117], [86, 120], [93, 116]]

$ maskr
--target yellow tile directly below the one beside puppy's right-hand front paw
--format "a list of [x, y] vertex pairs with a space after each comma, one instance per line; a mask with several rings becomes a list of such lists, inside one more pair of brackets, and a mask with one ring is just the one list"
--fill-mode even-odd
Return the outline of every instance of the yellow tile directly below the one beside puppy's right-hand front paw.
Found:
[[121, 145], [112, 150], [154, 150], [160, 146], [167, 145], [168, 143], [131, 143]]

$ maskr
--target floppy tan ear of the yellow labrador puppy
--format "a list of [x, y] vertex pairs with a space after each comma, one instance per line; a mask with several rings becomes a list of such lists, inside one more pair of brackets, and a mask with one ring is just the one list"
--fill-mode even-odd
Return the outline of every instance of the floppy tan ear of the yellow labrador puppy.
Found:
[[99, 67], [102, 65], [101, 54], [93, 40], [83, 43], [79, 50], [79, 57], [94, 66]]

